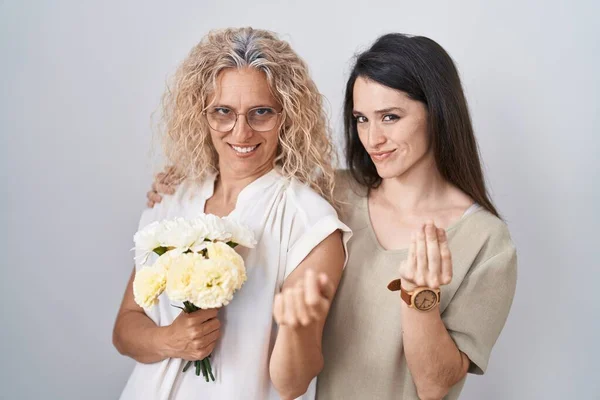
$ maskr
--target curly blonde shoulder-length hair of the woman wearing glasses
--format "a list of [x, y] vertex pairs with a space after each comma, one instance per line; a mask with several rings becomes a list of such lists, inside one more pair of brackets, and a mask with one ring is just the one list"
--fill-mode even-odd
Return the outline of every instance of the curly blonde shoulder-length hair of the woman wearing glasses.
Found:
[[334, 150], [323, 98], [304, 61], [274, 33], [252, 28], [213, 30], [196, 45], [163, 96], [164, 147], [175, 171], [202, 178], [218, 170], [218, 156], [204, 112], [217, 77], [226, 68], [265, 73], [283, 106], [275, 165], [309, 185], [334, 207]]

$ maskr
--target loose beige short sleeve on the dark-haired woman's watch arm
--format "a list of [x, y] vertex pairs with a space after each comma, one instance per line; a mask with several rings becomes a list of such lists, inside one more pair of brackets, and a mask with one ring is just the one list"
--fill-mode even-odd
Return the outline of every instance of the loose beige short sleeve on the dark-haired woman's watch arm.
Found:
[[[482, 375], [512, 305], [517, 283], [514, 247], [475, 265], [442, 313], [442, 321], [458, 349]], [[443, 295], [443, 294], [442, 294]]]

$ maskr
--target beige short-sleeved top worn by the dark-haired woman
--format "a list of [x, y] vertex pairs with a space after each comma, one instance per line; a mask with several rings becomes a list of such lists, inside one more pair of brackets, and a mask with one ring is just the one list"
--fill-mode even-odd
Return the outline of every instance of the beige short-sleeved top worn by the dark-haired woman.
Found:
[[[401, 299], [387, 284], [398, 277], [407, 250], [385, 250], [370, 223], [364, 189], [338, 177], [342, 221], [353, 231], [348, 264], [323, 338], [325, 368], [317, 399], [418, 399], [402, 344]], [[362, 191], [362, 193], [361, 193]], [[442, 287], [442, 320], [483, 374], [512, 304], [517, 279], [515, 246], [507, 226], [483, 208], [447, 229], [453, 278]], [[457, 399], [465, 379], [445, 399]]]

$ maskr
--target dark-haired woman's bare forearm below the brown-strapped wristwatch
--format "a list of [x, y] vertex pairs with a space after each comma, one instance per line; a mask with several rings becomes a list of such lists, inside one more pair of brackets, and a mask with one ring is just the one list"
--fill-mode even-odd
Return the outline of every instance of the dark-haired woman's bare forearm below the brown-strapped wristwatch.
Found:
[[419, 397], [441, 399], [464, 377], [468, 358], [448, 334], [438, 307], [420, 312], [402, 303], [404, 354]]

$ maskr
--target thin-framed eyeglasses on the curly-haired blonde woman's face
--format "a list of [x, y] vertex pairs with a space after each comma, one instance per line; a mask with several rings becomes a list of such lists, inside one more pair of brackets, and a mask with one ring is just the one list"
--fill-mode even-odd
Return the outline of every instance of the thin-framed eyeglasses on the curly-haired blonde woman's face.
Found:
[[204, 112], [208, 125], [221, 133], [230, 132], [235, 127], [240, 115], [246, 117], [246, 122], [252, 130], [256, 132], [270, 131], [277, 125], [281, 114], [271, 107], [256, 107], [239, 114], [227, 107], [213, 107]]

